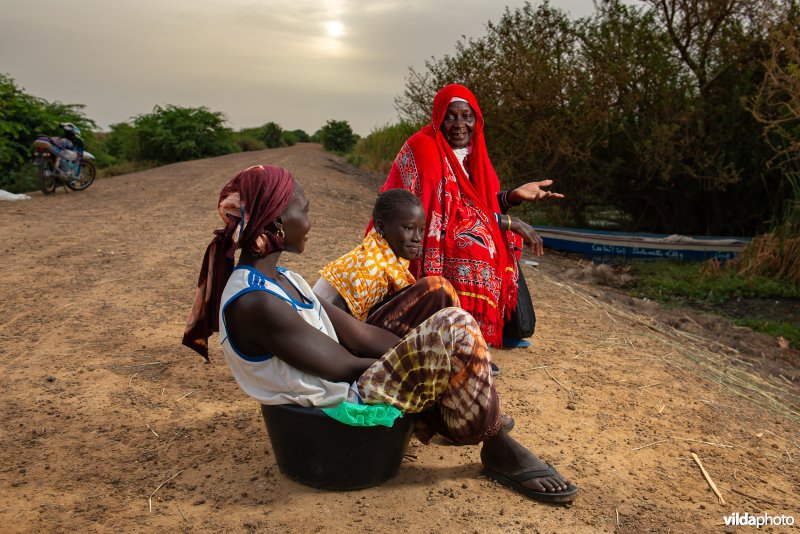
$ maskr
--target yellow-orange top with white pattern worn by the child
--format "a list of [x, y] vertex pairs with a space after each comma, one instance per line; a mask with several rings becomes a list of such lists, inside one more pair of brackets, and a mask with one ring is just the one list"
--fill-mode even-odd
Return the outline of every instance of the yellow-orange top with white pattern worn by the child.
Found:
[[375, 304], [416, 281], [409, 263], [398, 258], [373, 228], [359, 246], [330, 262], [320, 274], [347, 302], [353, 317], [363, 321]]

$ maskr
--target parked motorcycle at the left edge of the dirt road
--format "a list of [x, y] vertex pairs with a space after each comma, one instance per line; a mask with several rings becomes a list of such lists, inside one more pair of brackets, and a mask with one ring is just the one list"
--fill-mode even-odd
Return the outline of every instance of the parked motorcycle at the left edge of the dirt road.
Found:
[[79, 158], [68, 139], [42, 135], [33, 142], [33, 148], [33, 164], [39, 168], [39, 188], [45, 195], [55, 191], [59, 183], [65, 191], [67, 187], [82, 191], [92, 185], [97, 176], [95, 157], [84, 151]]

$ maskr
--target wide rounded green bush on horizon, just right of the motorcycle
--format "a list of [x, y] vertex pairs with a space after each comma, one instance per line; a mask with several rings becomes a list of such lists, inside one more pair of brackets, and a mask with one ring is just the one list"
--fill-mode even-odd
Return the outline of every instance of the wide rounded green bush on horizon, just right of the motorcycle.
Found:
[[138, 141], [136, 159], [173, 163], [239, 151], [220, 112], [205, 107], [155, 106], [133, 120]]

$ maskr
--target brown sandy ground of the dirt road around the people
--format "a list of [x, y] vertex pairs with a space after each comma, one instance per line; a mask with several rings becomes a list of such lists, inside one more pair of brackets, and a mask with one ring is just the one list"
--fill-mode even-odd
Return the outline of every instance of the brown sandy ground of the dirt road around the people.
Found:
[[731, 512], [800, 522], [797, 354], [575, 281], [554, 255], [525, 267], [532, 346], [494, 359], [515, 436], [580, 486], [573, 506], [518, 496], [479, 476], [478, 447], [441, 443], [412, 441], [377, 488], [289, 481], [216, 337], [210, 365], [180, 345], [218, 192], [264, 162], [291, 169], [312, 199], [307, 252], [284, 264], [313, 283], [360, 240], [380, 185], [316, 145], [0, 204], [0, 530], [720, 532]]

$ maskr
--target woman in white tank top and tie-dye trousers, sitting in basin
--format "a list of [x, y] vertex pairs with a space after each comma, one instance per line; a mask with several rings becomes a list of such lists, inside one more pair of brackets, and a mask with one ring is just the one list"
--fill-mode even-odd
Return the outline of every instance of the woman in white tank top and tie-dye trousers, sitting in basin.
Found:
[[278, 167], [250, 167], [223, 188], [225, 227], [206, 251], [184, 344], [207, 356], [218, 330], [236, 381], [260, 403], [350, 400], [419, 413], [423, 442], [440, 433], [483, 443], [486, 476], [534, 499], [572, 501], [578, 489], [502, 428], [491, 356], [471, 315], [445, 308], [399, 338], [320, 302], [278, 266], [284, 250], [304, 251], [308, 210], [302, 187]]

